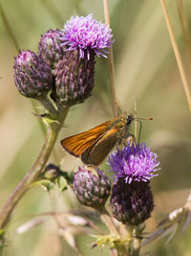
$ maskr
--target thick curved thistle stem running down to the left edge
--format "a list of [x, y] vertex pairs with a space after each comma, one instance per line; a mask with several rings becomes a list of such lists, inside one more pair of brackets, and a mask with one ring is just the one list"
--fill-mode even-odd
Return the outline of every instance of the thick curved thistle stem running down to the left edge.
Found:
[[8, 198], [2, 210], [0, 211], [0, 228], [4, 228], [6, 226], [11, 217], [11, 213], [18, 201], [24, 196], [25, 192], [30, 188], [32, 182], [35, 181], [38, 175], [40, 175], [43, 171], [46, 162], [53, 151], [53, 145], [57, 138], [58, 132], [66, 118], [68, 110], [69, 108], [63, 109], [62, 113], [59, 116], [59, 124], [52, 123], [49, 126], [45, 142], [42, 146], [40, 153], [38, 154], [38, 157], [32, 165], [32, 169], [16, 186], [10, 198]]

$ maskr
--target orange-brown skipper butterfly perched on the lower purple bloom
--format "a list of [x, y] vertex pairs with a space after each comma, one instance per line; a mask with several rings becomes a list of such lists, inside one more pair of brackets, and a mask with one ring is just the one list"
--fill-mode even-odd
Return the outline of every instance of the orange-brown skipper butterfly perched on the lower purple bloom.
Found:
[[122, 140], [135, 140], [129, 132], [133, 115], [117, 117], [84, 132], [64, 138], [61, 147], [75, 157], [80, 157], [86, 165], [99, 165], [106, 155]]

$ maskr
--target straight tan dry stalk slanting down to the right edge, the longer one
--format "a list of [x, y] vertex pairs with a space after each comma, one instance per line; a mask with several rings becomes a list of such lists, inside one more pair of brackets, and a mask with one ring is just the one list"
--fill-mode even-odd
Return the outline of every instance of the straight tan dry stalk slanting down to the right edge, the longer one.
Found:
[[169, 17], [169, 14], [168, 14], [168, 11], [167, 11], [167, 8], [166, 8], [166, 5], [165, 5], [165, 1], [160, 0], [160, 4], [161, 4], [162, 11], [163, 11], [163, 14], [164, 14], [164, 18], [165, 18], [165, 21], [166, 21], [166, 26], [167, 26], [168, 33], [169, 33], [169, 36], [170, 36], [170, 39], [171, 39], [171, 43], [172, 43], [172, 46], [173, 46], [175, 57], [177, 59], [178, 67], [179, 67], [179, 70], [180, 70], [180, 77], [181, 77], [181, 81], [183, 83], [183, 88], [184, 88], [185, 96], [186, 96], [186, 99], [187, 99], [187, 103], [188, 103], [189, 109], [191, 111], [191, 91], [190, 91], [189, 84], [188, 84], [188, 81], [187, 81], [187, 78], [186, 78], [186, 75], [185, 75], [185, 71], [184, 71], [184, 68], [183, 68], [182, 60], [181, 60], [181, 57], [180, 57], [180, 51], [179, 51], [177, 41], [176, 41], [176, 38], [175, 38], [175, 35], [174, 35], [174, 32], [173, 32], [172, 24], [171, 24], [170, 17]]

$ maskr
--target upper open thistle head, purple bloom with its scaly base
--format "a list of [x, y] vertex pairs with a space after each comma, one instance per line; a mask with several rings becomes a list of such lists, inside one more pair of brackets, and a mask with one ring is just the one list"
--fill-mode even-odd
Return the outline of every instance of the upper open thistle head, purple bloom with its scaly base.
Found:
[[72, 17], [60, 37], [66, 48], [55, 65], [55, 95], [63, 105], [83, 103], [94, 87], [96, 56], [104, 56], [112, 45], [111, 29], [92, 14]]

